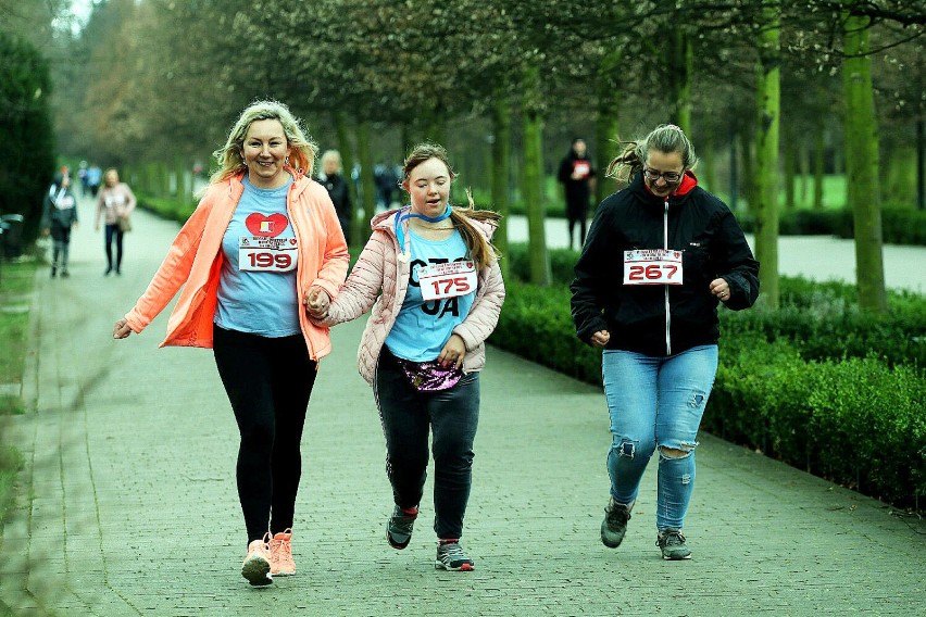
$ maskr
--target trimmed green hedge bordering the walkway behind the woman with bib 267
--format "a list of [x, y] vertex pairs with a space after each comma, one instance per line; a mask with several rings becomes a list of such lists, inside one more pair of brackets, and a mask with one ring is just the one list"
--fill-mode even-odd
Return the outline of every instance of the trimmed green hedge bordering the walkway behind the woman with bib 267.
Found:
[[[554, 285], [526, 278], [509, 247], [508, 298], [489, 342], [601, 385], [601, 352], [570, 315], [577, 253], [551, 251]], [[702, 427], [900, 506], [926, 495], [926, 302], [889, 293], [890, 315], [858, 310], [853, 286], [781, 279], [783, 308], [721, 310], [717, 379]]]

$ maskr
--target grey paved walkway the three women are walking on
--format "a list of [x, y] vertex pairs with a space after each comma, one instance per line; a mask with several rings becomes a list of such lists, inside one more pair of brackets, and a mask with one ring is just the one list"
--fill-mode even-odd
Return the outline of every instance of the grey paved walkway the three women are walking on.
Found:
[[466, 519], [477, 570], [434, 570], [429, 498], [411, 545], [391, 550], [383, 437], [354, 368], [361, 322], [334, 330], [310, 405], [299, 575], [252, 589], [238, 570], [236, 428], [211, 354], [158, 350], [166, 314], [111, 339], [176, 225], [138, 213], [125, 275], [103, 278], [80, 207], [73, 276], [37, 278], [24, 390], [38, 412], [3, 418], [27, 459], [0, 545], [0, 601], [15, 615], [923, 615], [923, 521], [708, 435], [693, 558], [659, 558], [654, 465], [624, 545], [605, 549], [602, 394], [495, 349]]

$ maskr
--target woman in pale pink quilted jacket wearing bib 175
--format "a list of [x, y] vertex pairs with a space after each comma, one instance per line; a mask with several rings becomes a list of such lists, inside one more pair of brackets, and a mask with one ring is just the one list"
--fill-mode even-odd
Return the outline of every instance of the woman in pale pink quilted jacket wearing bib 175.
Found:
[[393, 507], [386, 539], [409, 545], [424, 493], [428, 436], [435, 464], [435, 567], [472, 570], [460, 545], [479, 417], [479, 372], [504, 284], [490, 244], [498, 214], [451, 207], [455, 174], [443, 148], [424, 143], [405, 159], [411, 204], [373, 218], [373, 235], [330, 305], [305, 299], [324, 326], [373, 308], [358, 353], [386, 437]]

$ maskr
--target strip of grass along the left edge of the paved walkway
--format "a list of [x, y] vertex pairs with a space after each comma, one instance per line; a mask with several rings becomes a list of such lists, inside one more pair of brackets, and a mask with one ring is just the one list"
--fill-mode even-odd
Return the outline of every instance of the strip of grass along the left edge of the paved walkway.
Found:
[[[29, 314], [20, 311], [28, 305], [35, 281], [35, 263], [0, 264], [0, 385], [23, 381]], [[0, 415], [25, 413], [18, 394], [0, 394]], [[0, 433], [0, 522], [13, 499], [13, 483], [22, 468], [23, 457]]]

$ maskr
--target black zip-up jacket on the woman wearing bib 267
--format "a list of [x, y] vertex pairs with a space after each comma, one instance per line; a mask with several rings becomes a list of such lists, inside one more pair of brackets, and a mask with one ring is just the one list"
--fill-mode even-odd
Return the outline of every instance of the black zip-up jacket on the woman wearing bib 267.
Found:
[[[684, 194], [683, 194], [684, 193]], [[624, 285], [624, 251], [681, 252], [683, 285]], [[667, 356], [719, 338], [710, 284], [730, 288], [727, 307], [740, 311], [759, 297], [759, 262], [724, 202], [686, 173], [667, 199], [653, 196], [637, 174], [598, 206], [570, 286], [579, 339], [608, 330], [606, 349]]]

